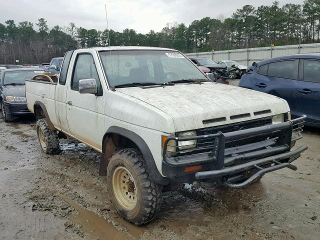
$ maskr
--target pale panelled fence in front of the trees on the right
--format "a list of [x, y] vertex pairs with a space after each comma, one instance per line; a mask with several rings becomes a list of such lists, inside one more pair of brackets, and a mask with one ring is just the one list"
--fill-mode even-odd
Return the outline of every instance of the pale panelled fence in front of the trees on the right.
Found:
[[270, 57], [313, 52], [320, 52], [320, 43], [194, 52], [186, 53], [185, 55], [188, 57], [208, 57], [215, 61], [234, 60], [243, 65], [250, 65], [254, 61], [258, 62]]

